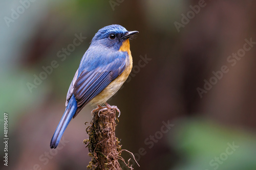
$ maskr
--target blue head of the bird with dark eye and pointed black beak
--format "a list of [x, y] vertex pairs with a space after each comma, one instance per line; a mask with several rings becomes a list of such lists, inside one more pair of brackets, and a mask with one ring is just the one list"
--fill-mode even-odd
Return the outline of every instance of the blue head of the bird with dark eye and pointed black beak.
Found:
[[119, 50], [125, 40], [138, 31], [127, 31], [120, 25], [110, 25], [100, 29], [92, 39], [92, 45], [104, 45], [114, 50]]

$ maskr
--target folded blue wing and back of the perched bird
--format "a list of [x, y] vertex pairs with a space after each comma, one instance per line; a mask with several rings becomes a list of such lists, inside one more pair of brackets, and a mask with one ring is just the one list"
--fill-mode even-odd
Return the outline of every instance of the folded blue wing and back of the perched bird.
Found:
[[[86, 53], [84, 57], [88, 57], [87, 55], [90, 53]], [[74, 94], [77, 101], [78, 108], [74, 117], [123, 72], [127, 55], [126, 52], [112, 52], [106, 56], [81, 60], [77, 76], [75, 75], [67, 95], [67, 103], [70, 94]]]

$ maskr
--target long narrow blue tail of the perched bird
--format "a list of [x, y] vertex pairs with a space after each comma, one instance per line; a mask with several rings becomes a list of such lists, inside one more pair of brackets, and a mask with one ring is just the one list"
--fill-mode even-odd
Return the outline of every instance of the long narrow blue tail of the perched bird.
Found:
[[59, 144], [60, 138], [63, 135], [63, 132], [65, 131], [67, 126], [69, 125], [76, 110], [77, 110], [76, 99], [75, 99], [75, 96], [72, 95], [70, 98], [69, 104], [66, 107], [65, 113], [61, 117], [60, 122], [57, 126], [57, 129], [55, 130], [55, 132], [53, 134], [53, 137], [52, 137], [52, 140], [50, 143], [51, 148], [55, 149], [57, 147], [57, 145]]

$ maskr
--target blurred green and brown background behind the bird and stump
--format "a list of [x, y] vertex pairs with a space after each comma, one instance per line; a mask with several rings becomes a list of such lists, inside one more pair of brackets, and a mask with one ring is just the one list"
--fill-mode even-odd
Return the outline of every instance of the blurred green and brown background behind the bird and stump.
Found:
[[[116, 135], [135, 154], [135, 169], [255, 170], [255, 6], [249, 0], [2, 1], [0, 134], [7, 112], [9, 164], [2, 160], [1, 169], [86, 169], [84, 123], [93, 107], [71, 121], [57, 150], [50, 140], [91, 39], [119, 24], [139, 31], [131, 40], [132, 74], [109, 101], [122, 112]], [[87, 38], [72, 49], [76, 35]], [[245, 39], [253, 41], [248, 51], [241, 50]], [[72, 50], [59, 58], [63, 48]], [[242, 57], [229, 57], [236, 53]], [[42, 75], [53, 61], [56, 68]], [[228, 72], [221, 74], [223, 66]], [[40, 74], [44, 80], [30, 89]]]

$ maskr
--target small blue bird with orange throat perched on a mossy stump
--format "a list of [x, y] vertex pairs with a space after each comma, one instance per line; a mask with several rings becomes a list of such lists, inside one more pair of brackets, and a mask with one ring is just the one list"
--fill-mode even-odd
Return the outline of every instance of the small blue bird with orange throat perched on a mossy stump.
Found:
[[120, 115], [120, 110], [106, 101], [120, 89], [132, 71], [129, 39], [137, 33], [120, 25], [110, 25], [94, 35], [70, 84], [66, 110], [51, 139], [51, 149], [58, 146], [72, 117], [75, 118], [87, 104], [97, 105], [92, 112], [114, 108]]

